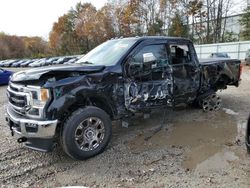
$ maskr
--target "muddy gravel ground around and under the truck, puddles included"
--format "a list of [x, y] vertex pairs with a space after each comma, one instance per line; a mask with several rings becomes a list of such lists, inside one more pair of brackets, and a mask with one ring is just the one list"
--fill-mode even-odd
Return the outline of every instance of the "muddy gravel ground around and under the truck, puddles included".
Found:
[[134, 117], [128, 128], [114, 122], [108, 148], [86, 161], [74, 161], [60, 149], [40, 153], [18, 144], [5, 123], [5, 90], [0, 86], [0, 187], [250, 187], [247, 67], [239, 88], [218, 93], [220, 111], [161, 110], [149, 119]]

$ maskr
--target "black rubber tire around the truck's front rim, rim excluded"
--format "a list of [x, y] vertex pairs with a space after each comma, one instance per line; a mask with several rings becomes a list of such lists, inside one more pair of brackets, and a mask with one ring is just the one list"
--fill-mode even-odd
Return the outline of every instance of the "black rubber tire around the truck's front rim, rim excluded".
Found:
[[[102, 121], [105, 133], [104, 137], [102, 138], [102, 142], [99, 143], [97, 148], [90, 151], [84, 151], [79, 147], [77, 141], [75, 140], [75, 134], [79, 125], [90, 117], [96, 117]], [[76, 110], [67, 119], [62, 131], [61, 143], [63, 150], [70, 157], [78, 160], [84, 160], [103, 152], [110, 141], [111, 135], [112, 125], [109, 115], [100, 108], [94, 106], [87, 106], [85, 108], [80, 108]]]

